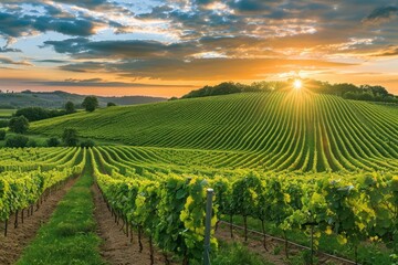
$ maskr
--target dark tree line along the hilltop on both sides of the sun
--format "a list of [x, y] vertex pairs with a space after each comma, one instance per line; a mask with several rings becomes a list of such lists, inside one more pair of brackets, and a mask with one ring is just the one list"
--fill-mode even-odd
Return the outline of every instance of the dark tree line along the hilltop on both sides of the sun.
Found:
[[[272, 82], [254, 82], [250, 85], [244, 85], [234, 82], [224, 82], [216, 86], [205, 86], [200, 89], [191, 91], [181, 98], [206, 97], [227, 95], [244, 92], [271, 92], [283, 91], [292, 87], [293, 81], [272, 81]], [[356, 86], [349, 83], [331, 84], [328, 82], [321, 82], [314, 80], [303, 80], [303, 88], [314, 93], [336, 95], [346, 99], [367, 100], [367, 102], [384, 102], [398, 103], [398, 96], [389, 94], [383, 86], [360, 85]]]

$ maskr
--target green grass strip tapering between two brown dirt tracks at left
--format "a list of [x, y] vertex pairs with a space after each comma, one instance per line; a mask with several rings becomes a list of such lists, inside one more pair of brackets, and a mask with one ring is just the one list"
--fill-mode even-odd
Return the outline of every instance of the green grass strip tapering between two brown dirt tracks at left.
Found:
[[59, 203], [49, 223], [24, 250], [18, 265], [105, 264], [98, 252], [90, 159], [84, 174]]

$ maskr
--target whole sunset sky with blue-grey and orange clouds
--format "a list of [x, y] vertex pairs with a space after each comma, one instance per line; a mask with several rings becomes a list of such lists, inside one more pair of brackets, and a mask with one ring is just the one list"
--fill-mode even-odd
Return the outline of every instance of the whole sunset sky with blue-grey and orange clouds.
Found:
[[181, 96], [314, 78], [398, 95], [398, 0], [2, 0], [0, 89]]

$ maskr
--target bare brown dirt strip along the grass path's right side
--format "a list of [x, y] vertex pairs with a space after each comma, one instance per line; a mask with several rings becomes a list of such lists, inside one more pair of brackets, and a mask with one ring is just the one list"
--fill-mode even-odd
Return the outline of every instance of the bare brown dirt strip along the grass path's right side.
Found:
[[[107, 210], [98, 188], [94, 186], [92, 190], [94, 192], [97, 233], [104, 240], [101, 246], [103, 258], [114, 265], [150, 264], [148, 240], [143, 239], [144, 251], [139, 253], [137, 232], [134, 231], [134, 240], [130, 243], [126, 234], [121, 231], [122, 224], [119, 226], [115, 224], [115, 219]], [[165, 264], [163, 256], [157, 252], [155, 252], [155, 264]]]

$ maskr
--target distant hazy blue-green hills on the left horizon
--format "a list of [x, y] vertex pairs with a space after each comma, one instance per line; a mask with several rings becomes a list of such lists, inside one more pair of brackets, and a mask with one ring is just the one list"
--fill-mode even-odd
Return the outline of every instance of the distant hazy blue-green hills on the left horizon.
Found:
[[[66, 92], [24, 92], [24, 93], [0, 93], [0, 105], [13, 108], [22, 107], [44, 107], [44, 108], [62, 108], [66, 102], [82, 104], [84, 95], [71, 94]], [[101, 97], [98, 96], [100, 106], [104, 107], [112, 102], [117, 105], [135, 105], [165, 102], [163, 97], [146, 96], [124, 96], [124, 97]]]

